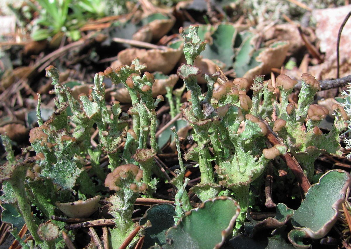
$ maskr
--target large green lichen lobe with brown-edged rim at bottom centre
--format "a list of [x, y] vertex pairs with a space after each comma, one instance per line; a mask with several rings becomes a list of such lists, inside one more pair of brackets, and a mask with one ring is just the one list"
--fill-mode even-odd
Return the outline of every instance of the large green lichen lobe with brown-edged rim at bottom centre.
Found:
[[166, 240], [170, 243], [162, 248], [219, 248], [232, 233], [239, 213], [239, 204], [230, 197], [208, 199], [167, 231]]

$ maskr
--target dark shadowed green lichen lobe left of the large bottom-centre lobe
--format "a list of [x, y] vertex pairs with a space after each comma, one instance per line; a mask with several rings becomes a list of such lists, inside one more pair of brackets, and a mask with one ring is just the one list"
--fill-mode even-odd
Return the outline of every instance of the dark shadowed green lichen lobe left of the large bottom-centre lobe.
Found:
[[150, 221], [151, 227], [145, 229], [145, 238], [142, 248], [149, 248], [155, 243], [159, 245], [165, 244], [166, 231], [173, 226], [173, 216], [175, 215], [176, 211], [174, 206], [168, 203], [156, 204], [146, 210], [139, 224], [145, 225], [147, 221]]

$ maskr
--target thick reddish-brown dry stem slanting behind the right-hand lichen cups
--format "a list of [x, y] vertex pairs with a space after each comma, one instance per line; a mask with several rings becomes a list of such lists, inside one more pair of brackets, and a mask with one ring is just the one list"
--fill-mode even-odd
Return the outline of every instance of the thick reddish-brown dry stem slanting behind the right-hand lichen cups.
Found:
[[[264, 122], [265, 125], [267, 126], [267, 133], [266, 133], [265, 137], [271, 143], [271, 145], [272, 146], [277, 145], [277, 144], [284, 145], [284, 143], [280, 142], [276, 138], [276, 135], [274, 135], [273, 131], [271, 131], [272, 128], [268, 125], [268, 123], [261, 116], [259, 116], [259, 119], [262, 122]], [[311, 184], [310, 184], [310, 181], [307, 179], [301, 166], [297, 162], [297, 160], [292, 155], [290, 155], [290, 153], [286, 153], [285, 155], [280, 155], [280, 157], [284, 160], [286, 165], [294, 173], [296, 179], [298, 180], [300, 186], [302, 187], [302, 190], [306, 194], [307, 191], [309, 190], [309, 188], [311, 187]]]

